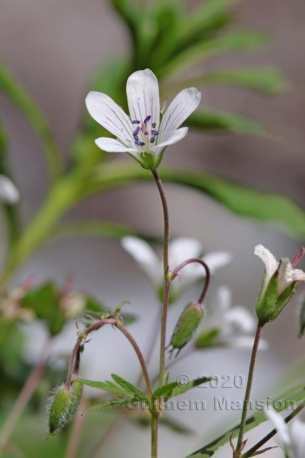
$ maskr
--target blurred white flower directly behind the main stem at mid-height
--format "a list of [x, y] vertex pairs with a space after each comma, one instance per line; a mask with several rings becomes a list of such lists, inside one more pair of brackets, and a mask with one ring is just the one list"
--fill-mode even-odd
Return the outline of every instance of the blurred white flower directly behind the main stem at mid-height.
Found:
[[[142, 239], [133, 236], [122, 238], [122, 246], [139, 263], [156, 288], [163, 288], [163, 264], [151, 246]], [[171, 240], [168, 249], [168, 261], [170, 270], [174, 270], [179, 264], [192, 257], [200, 257], [202, 253], [201, 243], [191, 237], [178, 237]], [[214, 251], [201, 258], [205, 261], [213, 275], [217, 269], [231, 262], [232, 256], [226, 251]], [[199, 278], [205, 276], [205, 270], [200, 264], [188, 264], [179, 273], [178, 279], [172, 282], [172, 293], [181, 294], [185, 280], [193, 284]], [[180, 282], [179, 282], [180, 279]]]

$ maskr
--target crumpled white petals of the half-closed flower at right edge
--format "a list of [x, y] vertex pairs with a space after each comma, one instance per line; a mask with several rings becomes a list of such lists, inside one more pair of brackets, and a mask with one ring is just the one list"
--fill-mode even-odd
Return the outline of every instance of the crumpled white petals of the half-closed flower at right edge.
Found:
[[[272, 253], [262, 245], [257, 245], [254, 254], [262, 259], [265, 264], [265, 278], [262, 284], [262, 293], [264, 294], [274, 273], [278, 270], [278, 295], [281, 294], [289, 285], [296, 281], [305, 281], [305, 273], [300, 269], [294, 269], [296, 262], [290, 262], [288, 258], [281, 259], [277, 262]], [[298, 255], [297, 255], [298, 256]], [[296, 257], [297, 257], [296, 256]], [[300, 259], [298, 259], [299, 261]]]

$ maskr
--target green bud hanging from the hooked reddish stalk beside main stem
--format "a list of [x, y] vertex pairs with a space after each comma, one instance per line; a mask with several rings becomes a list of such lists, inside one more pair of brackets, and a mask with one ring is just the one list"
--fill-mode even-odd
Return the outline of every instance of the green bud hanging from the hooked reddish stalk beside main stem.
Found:
[[[197, 302], [189, 302], [182, 311], [171, 337], [172, 349], [180, 350], [191, 340], [203, 318], [203, 307]], [[177, 356], [177, 355], [176, 355]]]

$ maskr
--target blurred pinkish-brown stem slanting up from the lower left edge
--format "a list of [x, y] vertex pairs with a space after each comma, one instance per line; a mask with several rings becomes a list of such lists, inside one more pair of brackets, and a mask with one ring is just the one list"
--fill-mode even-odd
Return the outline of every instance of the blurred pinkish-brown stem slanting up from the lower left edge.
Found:
[[[38, 364], [34, 367], [31, 374], [29, 375], [27, 381], [25, 382], [24, 386], [21, 389], [21, 392], [18, 395], [18, 398], [15, 401], [11, 412], [5, 421], [5, 424], [2, 427], [0, 432], [0, 454], [5, 449], [12, 432], [16, 426], [17, 421], [19, 420], [23, 410], [26, 408], [27, 403], [32, 398], [32, 394], [34, 393], [41, 377], [43, 376], [43, 372], [48, 365], [49, 354], [48, 354], [48, 347], [49, 342], [43, 349], [43, 354], [38, 362]], [[45, 353], [47, 352], [47, 355]]]

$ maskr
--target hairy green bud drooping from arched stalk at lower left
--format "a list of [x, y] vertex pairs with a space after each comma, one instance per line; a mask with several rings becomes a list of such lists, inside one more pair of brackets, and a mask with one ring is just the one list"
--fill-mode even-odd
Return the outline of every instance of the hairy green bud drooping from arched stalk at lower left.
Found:
[[48, 400], [49, 433], [53, 435], [68, 425], [80, 403], [83, 385], [73, 382], [70, 388], [58, 387]]

